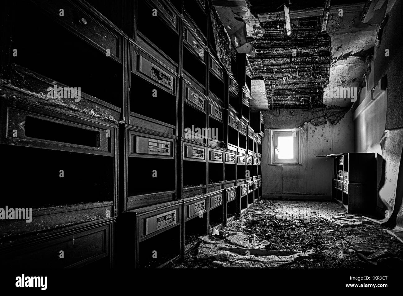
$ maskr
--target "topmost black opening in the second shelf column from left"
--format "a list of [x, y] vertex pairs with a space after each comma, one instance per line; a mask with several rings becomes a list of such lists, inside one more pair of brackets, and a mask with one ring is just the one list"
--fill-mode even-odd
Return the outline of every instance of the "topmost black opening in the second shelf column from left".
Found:
[[[171, 10], [168, 10], [170, 15], [170, 20], [176, 21], [174, 23], [166, 23], [162, 20], [162, 12], [158, 11], [157, 16], [153, 16], [153, 8], [147, 5], [145, 1], [138, 2], [138, 13], [137, 13], [137, 29], [141, 34], [143, 34], [148, 40], [154, 43], [162, 52], [164, 52], [169, 58], [171, 58], [175, 63], [179, 62], [179, 47], [172, 46], [173, 44], [179, 44], [179, 35], [175, 31], [177, 25], [177, 18], [175, 14], [171, 14]], [[158, 32], [156, 32], [158, 28]], [[161, 38], [164, 36], [164, 38]], [[169, 42], [167, 42], [169, 40]]]

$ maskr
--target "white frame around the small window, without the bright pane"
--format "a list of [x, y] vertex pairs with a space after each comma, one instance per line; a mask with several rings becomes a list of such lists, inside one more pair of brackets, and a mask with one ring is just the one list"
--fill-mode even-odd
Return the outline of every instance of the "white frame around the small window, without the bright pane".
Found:
[[[276, 150], [276, 146], [278, 145], [278, 135], [290, 135], [297, 138], [296, 143], [294, 142], [294, 157], [292, 159], [278, 159], [276, 155], [278, 155], [278, 149]], [[271, 157], [270, 163], [276, 166], [283, 165], [300, 165], [301, 164], [301, 129], [300, 128], [281, 128], [281, 129], [272, 129], [270, 131], [270, 150]]]

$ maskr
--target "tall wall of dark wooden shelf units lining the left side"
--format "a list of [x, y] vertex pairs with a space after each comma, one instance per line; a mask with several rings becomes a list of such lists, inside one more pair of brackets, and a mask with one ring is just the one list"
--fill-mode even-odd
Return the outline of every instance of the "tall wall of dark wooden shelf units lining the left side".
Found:
[[211, 3], [103, 2], [4, 6], [6, 263], [164, 267], [262, 196], [251, 67], [223, 66]]

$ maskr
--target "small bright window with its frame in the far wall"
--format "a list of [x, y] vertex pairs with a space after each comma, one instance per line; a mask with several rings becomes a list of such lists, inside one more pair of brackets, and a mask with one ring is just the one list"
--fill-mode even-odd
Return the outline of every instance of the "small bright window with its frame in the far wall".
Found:
[[300, 164], [299, 129], [272, 130], [272, 164]]

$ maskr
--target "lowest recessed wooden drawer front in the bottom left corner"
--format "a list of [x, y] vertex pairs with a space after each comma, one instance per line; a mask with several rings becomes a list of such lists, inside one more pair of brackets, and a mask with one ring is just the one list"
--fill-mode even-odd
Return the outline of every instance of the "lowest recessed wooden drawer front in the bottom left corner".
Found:
[[29, 247], [14, 248], [11, 253], [0, 254], [0, 259], [5, 264], [9, 261], [9, 264], [25, 268], [81, 267], [109, 255], [113, 225], [72, 230], [63, 236], [45, 238], [29, 244]]

